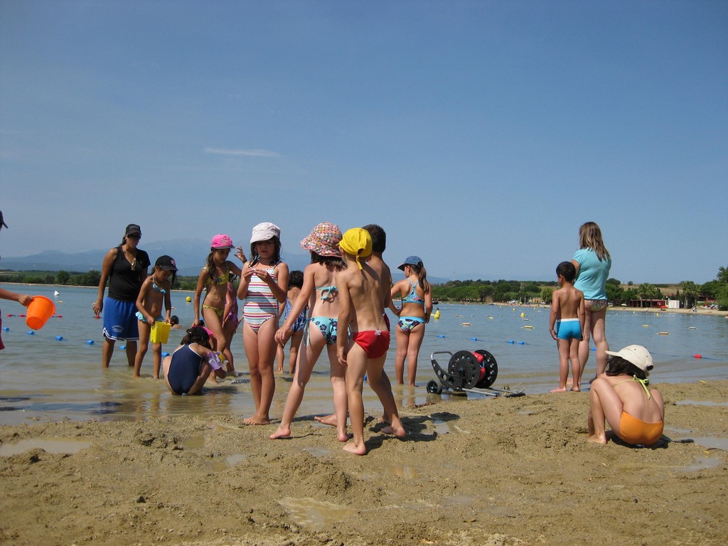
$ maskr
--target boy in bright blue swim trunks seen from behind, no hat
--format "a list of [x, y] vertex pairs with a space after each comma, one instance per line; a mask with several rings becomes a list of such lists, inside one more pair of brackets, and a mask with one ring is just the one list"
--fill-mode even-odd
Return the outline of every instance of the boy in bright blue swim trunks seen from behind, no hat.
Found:
[[571, 360], [571, 390], [579, 392], [582, 381], [582, 367], [579, 363], [579, 341], [584, 339], [584, 294], [572, 284], [577, 269], [570, 261], [562, 261], [556, 267], [560, 288], [553, 293], [549, 331], [558, 344], [558, 389], [551, 392], [566, 392], [566, 378], [569, 376]]

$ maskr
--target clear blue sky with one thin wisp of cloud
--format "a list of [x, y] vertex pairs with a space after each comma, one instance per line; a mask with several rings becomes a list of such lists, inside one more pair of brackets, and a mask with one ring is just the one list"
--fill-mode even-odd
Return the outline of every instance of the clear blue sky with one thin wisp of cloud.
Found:
[[379, 223], [555, 280], [595, 221], [610, 277], [702, 284], [727, 182], [725, 1], [0, 2], [6, 257]]

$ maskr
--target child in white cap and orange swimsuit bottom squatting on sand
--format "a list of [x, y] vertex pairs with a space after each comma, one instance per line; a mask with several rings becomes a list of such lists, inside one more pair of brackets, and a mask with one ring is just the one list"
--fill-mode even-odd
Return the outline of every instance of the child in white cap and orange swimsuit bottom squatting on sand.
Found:
[[641, 345], [606, 354], [606, 373], [591, 384], [587, 439], [606, 443], [606, 419], [614, 435], [626, 443], [652, 446], [662, 437], [665, 419], [660, 391], [647, 388], [652, 355]]

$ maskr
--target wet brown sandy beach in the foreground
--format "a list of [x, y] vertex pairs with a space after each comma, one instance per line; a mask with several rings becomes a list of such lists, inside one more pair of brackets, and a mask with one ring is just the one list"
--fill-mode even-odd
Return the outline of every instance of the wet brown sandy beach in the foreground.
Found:
[[363, 457], [312, 416], [288, 440], [239, 416], [4, 426], [0, 543], [723, 545], [728, 381], [653, 386], [695, 443], [587, 443], [587, 393], [406, 407], [404, 440], [370, 410]]

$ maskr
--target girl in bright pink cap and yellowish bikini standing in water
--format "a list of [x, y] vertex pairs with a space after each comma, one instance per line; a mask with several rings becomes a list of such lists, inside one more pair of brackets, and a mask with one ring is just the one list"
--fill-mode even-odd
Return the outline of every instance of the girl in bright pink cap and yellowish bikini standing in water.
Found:
[[[218, 234], [213, 237], [210, 243], [210, 254], [207, 255], [207, 264], [199, 272], [197, 288], [194, 290], [194, 322], [193, 326], [200, 324], [200, 296], [202, 289], [205, 289], [205, 301], [202, 302], [202, 319], [205, 326], [215, 336], [215, 350], [221, 352], [226, 358], [230, 358], [227, 337], [223, 332], [223, 310], [225, 309], [225, 298], [230, 272], [240, 275], [242, 270], [227, 258], [230, 249], [233, 248], [232, 239], [225, 234]], [[235, 252], [240, 261], [245, 262], [245, 254], [242, 248]], [[229, 360], [232, 362], [232, 359]]]

